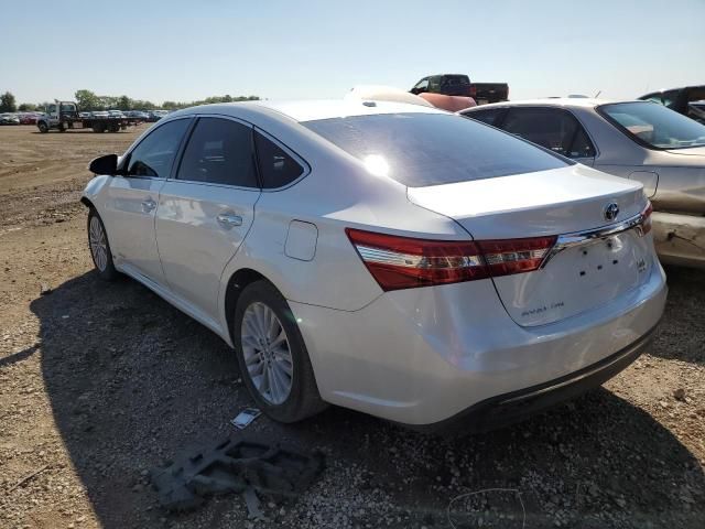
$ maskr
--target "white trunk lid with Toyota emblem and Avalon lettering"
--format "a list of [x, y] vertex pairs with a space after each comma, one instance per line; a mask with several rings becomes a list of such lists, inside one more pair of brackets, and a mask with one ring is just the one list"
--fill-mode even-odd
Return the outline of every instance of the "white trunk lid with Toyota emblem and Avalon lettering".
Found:
[[[576, 164], [536, 173], [409, 187], [409, 199], [460, 224], [475, 240], [558, 237], [539, 270], [492, 277], [509, 315], [522, 326], [543, 325], [609, 303], [646, 281], [652, 245], [638, 229], [619, 231], [647, 202], [639, 183]], [[619, 212], [606, 219], [608, 206]], [[610, 207], [615, 213], [614, 206]]]

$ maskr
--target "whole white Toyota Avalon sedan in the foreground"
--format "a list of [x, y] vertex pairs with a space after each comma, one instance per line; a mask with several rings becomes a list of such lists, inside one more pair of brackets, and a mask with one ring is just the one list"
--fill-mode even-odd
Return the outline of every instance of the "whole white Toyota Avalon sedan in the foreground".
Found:
[[623, 369], [663, 312], [640, 183], [434, 108], [195, 107], [91, 171], [98, 274], [221, 336], [279, 421], [495, 428]]

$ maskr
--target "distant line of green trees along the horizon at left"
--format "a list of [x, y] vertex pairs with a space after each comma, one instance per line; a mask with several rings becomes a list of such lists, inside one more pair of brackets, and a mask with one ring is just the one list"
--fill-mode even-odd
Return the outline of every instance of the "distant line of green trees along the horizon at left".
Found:
[[[230, 95], [207, 97], [198, 101], [164, 101], [162, 105], [155, 105], [152, 101], [145, 101], [142, 99], [131, 99], [128, 96], [98, 96], [90, 90], [77, 90], [75, 94], [76, 102], [80, 110], [151, 110], [154, 108], [163, 108], [166, 110], [175, 110], [178, 108], [193, 107], [194, 105], [207, 105], [210, 102], [232, 102], [232, 101], [256, 101], [258, 96], [237, 96]], [[6, 91], [0, 95], [0, 112], [30, 112], [33, 110], [41, 110], [47, 104], [40, 102], [33, 105], [31, 102], [23, 102], [18, 106], [14, 96], [10, 91]]]

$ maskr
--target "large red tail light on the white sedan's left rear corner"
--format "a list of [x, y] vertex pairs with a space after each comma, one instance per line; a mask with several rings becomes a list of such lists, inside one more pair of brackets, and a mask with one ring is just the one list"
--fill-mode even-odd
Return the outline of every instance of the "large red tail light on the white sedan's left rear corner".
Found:
[[474, 281], [536, 270], [555, 237], [507, 240], [429, 240], [346, 229], [384, 291]]

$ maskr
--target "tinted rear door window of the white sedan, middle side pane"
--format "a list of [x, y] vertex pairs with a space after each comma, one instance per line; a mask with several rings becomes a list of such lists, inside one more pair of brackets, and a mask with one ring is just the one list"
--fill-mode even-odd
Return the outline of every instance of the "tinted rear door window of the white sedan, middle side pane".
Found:
[[178, 180], [258, 187], [252, 129], [229, 119], [200, 118], [178, 168]]

